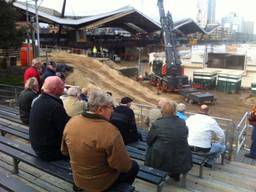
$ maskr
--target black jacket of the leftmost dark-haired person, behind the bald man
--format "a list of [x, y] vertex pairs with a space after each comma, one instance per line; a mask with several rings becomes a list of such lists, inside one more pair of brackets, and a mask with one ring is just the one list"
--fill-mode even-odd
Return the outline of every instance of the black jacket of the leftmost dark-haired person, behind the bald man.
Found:
[[19, 96], [20, 120], [28, 125], [31, 103], [38, 96], [32, 89], [24, 89]]

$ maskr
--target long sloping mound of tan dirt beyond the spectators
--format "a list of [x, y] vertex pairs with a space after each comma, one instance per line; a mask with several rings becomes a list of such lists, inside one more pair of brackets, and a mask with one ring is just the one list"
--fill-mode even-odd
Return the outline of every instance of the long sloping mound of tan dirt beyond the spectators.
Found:
[[[159, 100], [154, 90], [121, 75], [117, 70], [96, 59], [65, 52], [51, 53], [51, 57], [57, 63], [66, 63], [74, 67], [73, 73], [66, 80], [68, 84], [111, 91], [116, 101], [123, 96], [130, 96], [135, 102], [144, 104], [156, 104]], [[180, 96], [177, 95], [169, 94], [168, 98], [180, 100]]]

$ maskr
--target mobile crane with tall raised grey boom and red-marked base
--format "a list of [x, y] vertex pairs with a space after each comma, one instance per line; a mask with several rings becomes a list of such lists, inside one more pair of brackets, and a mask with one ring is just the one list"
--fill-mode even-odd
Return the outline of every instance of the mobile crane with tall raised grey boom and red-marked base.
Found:
[[162, 36], [165, 46], [165, 61], [154, 60], [151, 83], [162, 91], [178, 91], [188, 84], [188, 77], [182, 74], [181, 61], [176, 51], [176, 34], [170, 12], [165, 14], [163, 0], [158, 0]]

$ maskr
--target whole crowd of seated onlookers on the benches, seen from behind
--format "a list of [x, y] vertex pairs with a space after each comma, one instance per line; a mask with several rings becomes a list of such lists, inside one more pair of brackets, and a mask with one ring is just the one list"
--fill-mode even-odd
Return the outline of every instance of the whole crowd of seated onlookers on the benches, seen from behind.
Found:
[[[29, 126], [32, 148], [45, 161], [70, 160], [79, 188], [106, 191], [119, 183], [132, 184], [139, 165], [125, 145], [142, 140], [133, 99], [125, 96], [114, 105], [111, 92], [65, 87], [53, 63], [42, 73], [40, 61], [34, 59], [24, 74], [20, 118]], [[226, 149], [224, 131], [209, 116], [207, 105], [189, 117], [185, 110], [183, 103], [160, 99], [146, 119], [145, 165], [168, 172], [175, 181], [192, 168], [193, 151], [213, 161]]]

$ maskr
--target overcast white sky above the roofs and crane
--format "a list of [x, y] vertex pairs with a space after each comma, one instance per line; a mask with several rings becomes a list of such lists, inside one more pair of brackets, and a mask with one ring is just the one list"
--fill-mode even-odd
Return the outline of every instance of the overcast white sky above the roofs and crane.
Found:
[[[22, 0], [26, 1], [26, 0]], [[32, 0], [28, 0], [32, 3]], [[38, 0], [42, 6], [61, 11], [63, 0]], [[196, 18], [196, 0], [164, 0], [164, 7], [170, 10], [174, 20]], [[255, 0], [216, 0], [216, 19], [236, 12], [245, 20], [256, 22]], [[86, 16], [112, 11], [132, 5], [139, 11], [157, 20], [159, 18], [157, 0], [67, 0], [66, 15]]]

